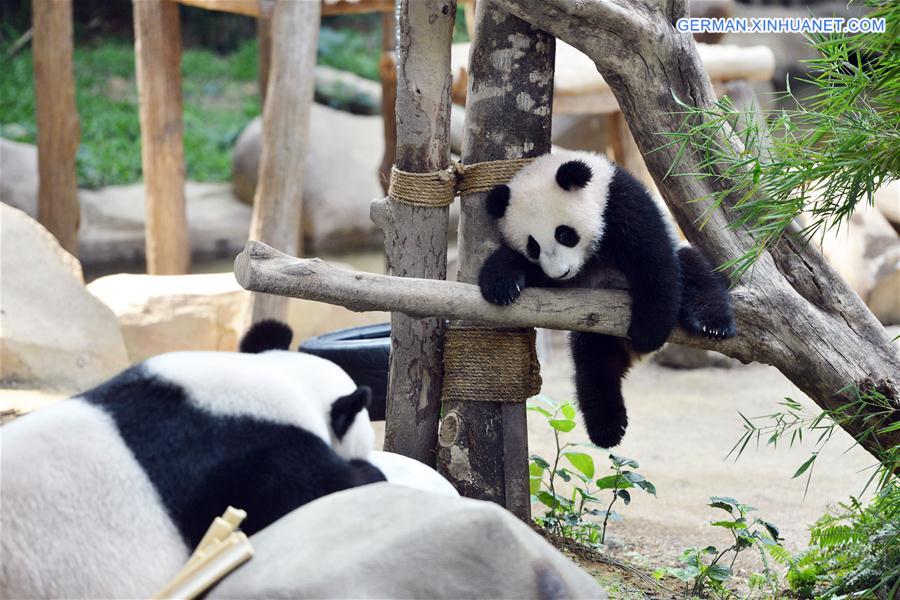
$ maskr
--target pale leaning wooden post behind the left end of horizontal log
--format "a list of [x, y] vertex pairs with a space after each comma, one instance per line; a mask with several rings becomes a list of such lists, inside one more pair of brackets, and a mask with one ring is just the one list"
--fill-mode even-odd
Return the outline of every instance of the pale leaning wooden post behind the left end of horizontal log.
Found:
[[[318, 2], [278, 2], [272, 14], [272, 59], [263, 109], [262, 157], [250, 239], [295, 256], [302, 253], [300, 218], [309, 113], [315, 91]], [[340, 177], [341, 165], [336, 165]], [[287, 299], [254, 294], [250, 319], [284, 319]]]

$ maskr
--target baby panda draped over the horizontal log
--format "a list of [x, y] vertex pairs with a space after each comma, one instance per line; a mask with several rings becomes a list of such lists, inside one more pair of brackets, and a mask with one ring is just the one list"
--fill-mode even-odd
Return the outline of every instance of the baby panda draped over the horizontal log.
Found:
[[628, 339], [572, 332], [578, 404], [591, 441], [617, 445], [628, 418], [621, 383], [633, 353], [660, 348], [676, 324], [695, 335], [735, 335], [727, 279], [690, 246], [631, 175], [588, 152], [547, 154], [491, 190], [487, 211], [503, 244], [478, 283], [486, 300], [514, 302], [525, 287], [591, 288], [603, 267], [631, 288]]

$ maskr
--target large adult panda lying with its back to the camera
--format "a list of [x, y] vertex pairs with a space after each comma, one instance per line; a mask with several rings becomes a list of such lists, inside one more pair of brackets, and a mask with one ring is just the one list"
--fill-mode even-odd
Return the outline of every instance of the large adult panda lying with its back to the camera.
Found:
[[368, 389], [290, 339], [264, 323], [244, 353], [163, 354], [0, 428], [0, 597], [148, 597], [228, 505], [250, 535], [383, 481]]

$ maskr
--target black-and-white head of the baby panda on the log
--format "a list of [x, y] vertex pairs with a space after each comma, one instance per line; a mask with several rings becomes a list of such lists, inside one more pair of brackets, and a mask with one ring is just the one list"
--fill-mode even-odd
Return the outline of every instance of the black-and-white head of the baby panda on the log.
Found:
[[578, 275], [603, 235], [614, 167], [587, 152], [547, 154], [490, 191], [488, 214], [506, 244], [557, 280]]

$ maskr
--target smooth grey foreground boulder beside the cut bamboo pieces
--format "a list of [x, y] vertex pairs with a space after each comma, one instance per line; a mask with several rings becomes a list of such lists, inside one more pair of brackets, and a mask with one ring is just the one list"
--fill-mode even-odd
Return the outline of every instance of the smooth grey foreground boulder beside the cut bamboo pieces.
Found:
[[320, 498], [252, 538], [208, 598], [598, 598], [594, 579], [499, 506], [388, 483]]

